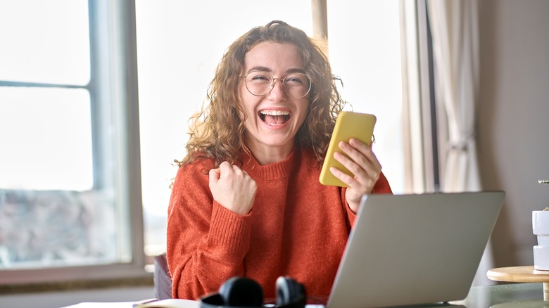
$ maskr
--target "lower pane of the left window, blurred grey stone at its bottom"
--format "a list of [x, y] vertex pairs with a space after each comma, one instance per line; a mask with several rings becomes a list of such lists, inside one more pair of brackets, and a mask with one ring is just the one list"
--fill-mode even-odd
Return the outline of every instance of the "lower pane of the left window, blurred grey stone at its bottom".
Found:
[[[91, 119], [85, 89], [0, 87], [0, 269], [131, 260], [122, 169], [97, 165], [111, 180], [94, 186]], [[119, 166], [110, 121], [99, 148]]]

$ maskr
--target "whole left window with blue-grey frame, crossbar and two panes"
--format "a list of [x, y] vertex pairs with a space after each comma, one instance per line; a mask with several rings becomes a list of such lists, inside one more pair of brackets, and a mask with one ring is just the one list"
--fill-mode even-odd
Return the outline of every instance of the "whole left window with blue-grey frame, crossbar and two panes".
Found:
[[0, 3], [0, 283], [144, 272], [132, 11]]

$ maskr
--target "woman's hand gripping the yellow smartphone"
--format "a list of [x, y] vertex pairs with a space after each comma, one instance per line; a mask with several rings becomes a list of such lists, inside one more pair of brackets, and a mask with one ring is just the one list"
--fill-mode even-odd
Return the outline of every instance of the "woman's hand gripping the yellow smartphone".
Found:
[[343, 173], [336, 167], [330, 168], [330, 172], [334, 174], [334, 177], [343, 181], [349, 187], [345, 193], [347, 203], [353, 212], [358, 211], [358, 205], [360, 199], [365, 193], [371, 193], [372, 188], [379, 179], [381, 174], [381, 164], [377, 160], [376, 155], [372, 151], [372, 145], [368, 146], [366, 143], [358, 139], [351, 138], [348, 143], [341, 141], [339, 148], [348, 155], [336, 152], [334, 158], [341, 162], [341, 165], [346, 167], [355, 176], [352, 177]]

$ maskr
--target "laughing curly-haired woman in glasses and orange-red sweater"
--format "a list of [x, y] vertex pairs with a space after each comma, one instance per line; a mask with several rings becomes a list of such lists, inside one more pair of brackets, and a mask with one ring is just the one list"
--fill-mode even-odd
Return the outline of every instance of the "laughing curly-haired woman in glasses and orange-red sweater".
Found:
[[[168, 212], [173, 297], [197, 299], [232, 276], [276, 297], [279, 276], [308, 295], [332, 288], [360, 198], [391, 193], [372, 148], [341, 143], [335, 155], [355, 174], [318, 178], [343, 108], [326, 56], [280, 21], [229, 46], [179, 162]], [[340, 153], [337, 153], [340, 154]]]

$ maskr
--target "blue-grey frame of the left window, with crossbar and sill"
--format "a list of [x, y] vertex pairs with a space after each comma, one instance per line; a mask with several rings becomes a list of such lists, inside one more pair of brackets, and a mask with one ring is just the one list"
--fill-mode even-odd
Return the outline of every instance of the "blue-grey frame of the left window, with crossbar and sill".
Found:
[[[94, 281], [113, 278], [151, 277], [145, 271], [144, 227], [141, 208], [141, 167], [139, 151], [139, 102], [137, 89], [137, 41], [134, 0], [89, 0], [90, 82], [84, 86], [1, 82], [0, 86], [32, 86], [87, 89], [92, 113], [94, 190], [108, 181], [118, 181], [120, 192], [116, 210], [127, 228], [118, 235], [126, 245], [128, 262], [86, 266], [63, 266], [39, 269], [0, 269], [0, 285]], [[113, 106], [116, 106], [113, 108]], [[120, 131], [115, 144], [119, 150], [105, 149], [110, 129], [103, 119], [115, 117]], [[115, 153], [115, 160], [109, 159]], [[108, 156], [107, 156], [108, 155]], [[108, 166], [111, 161], [120, 166]], [[112, 165], [112, 164], [111, 164]], [[109, 179], [103, 169], [120, 168], [120, 178]]]

